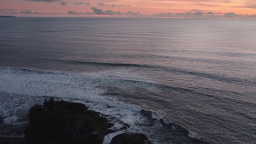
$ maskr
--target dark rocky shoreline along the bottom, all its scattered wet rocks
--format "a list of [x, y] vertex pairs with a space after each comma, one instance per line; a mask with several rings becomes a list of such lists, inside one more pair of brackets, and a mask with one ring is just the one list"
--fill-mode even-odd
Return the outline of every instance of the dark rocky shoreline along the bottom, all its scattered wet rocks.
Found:
[[[107, 106], [110, 107], [110, 106]], [[152, 118], [152, 112], [141, 110], [141, 115]], [[118, 122], [121, 127], [113, 128], [117, 123], [113, 117], [88, 110], [84, 104], [68, 101], [45, 100], [43, 105], [34, 105], [28, 113], [29, 123], [24, 131], [25, 138], [0, 137], [0, 143], [104, 143], [106, 135], [114, 134], [110, 144], [143, 144], [152, 143], [145, 134], [130, 133], [126, 129], [130, 125]], [[189, 136], [189, 131], [176, 124], [166, 124], [163, 119], [160, 122], [170, 127], [177, 133]], [[4, 117], [0, 116], [0, 125], [4, 124]], [[152, 127], [153, 123], [138, 123], [146, 127]], [[8, 125], [6, 126], [8, 127]], [[207, 143], [201, 140], [191, 139], [190, 143]]]

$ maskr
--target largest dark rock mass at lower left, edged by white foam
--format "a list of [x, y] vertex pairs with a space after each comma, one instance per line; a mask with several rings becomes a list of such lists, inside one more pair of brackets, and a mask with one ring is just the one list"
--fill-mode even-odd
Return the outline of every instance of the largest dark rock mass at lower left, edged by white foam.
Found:
[[88, 111], [84, 104], [62, 100], [35, 105], [28, 117], [30, 126], [25, 135], [34, 141], [100, 144], [108, 129], [107, 119], [100, 113]]

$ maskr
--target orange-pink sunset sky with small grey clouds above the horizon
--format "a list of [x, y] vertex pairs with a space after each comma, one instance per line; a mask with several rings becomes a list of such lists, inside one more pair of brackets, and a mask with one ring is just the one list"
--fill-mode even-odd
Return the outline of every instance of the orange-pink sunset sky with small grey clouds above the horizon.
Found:
[[[190, 11], [190, 12], [189, 12]], [[0, 15], [256, 14], [256, 0], [1, 0]], [[198, 13], [198, 14], [200, 14]]]

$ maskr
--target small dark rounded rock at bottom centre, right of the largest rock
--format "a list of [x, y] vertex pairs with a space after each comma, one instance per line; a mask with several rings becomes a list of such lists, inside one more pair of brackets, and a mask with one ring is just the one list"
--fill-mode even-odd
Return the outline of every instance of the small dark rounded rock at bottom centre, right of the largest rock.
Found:
[[152, 144], [146, 135], [137, 133], [124, 133], [113, 137], [110, 144]]

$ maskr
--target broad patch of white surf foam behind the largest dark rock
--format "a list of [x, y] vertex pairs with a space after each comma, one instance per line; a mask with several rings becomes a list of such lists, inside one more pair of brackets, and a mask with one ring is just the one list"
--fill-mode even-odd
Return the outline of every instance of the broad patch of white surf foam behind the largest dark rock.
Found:
[[[124, 73], [125, 71], [118, 70], [64, 74], [20, 68], [0, 68], [0, 92], [2, 93], [0, 115], [7, 116], [5, 123], [15, 124], [19, 119], [26, 117], [32, 105], [42, 104], [45, 97], [55, 97], [84, 103], [90, 110], [113, 116], [127, 124], [134, 124], [141, 119], [139, 114], [141, 109], [116, 101], [115, 98], [103, 96], [106, 89], [100, 86], [102, 81], [112, 80], [113, 77], [119, 80], [139, 80], [140, 76], [137, 74]], [[108, 109], [106, 105], [112, 108]]]

